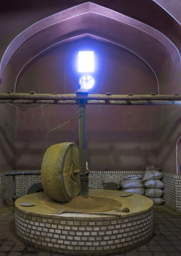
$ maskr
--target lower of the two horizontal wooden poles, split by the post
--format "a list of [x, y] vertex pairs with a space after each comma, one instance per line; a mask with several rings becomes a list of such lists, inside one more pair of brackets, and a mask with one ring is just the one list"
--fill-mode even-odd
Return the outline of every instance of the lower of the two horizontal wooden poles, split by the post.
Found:
[[[46, 101], [46, 100], [0, 100], [0, 103], [10, 103], [10, 104], [77, 104], [77, 101]], [[141, 105], [181, 105], [181, 101], [97, 101], [97, 100], [89, 100], [86, 101], [86, 104], [103, 104], [103, 105], [131, 105], [131, 106], [141, 106]]]

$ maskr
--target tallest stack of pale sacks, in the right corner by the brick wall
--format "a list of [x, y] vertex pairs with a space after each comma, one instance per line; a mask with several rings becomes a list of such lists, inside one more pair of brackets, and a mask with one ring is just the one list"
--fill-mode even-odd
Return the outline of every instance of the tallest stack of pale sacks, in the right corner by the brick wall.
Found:
[[164, 191], [165, 184], [160, 180], [164, 174], [161, 173], [161, 168], [154, 168], [154, 166], [146, 166], [144, 172], [144, 185], [145, 185], [145, 196], [150, 198], [154, 204], [163, 204], [165, 200], [161, 197]]

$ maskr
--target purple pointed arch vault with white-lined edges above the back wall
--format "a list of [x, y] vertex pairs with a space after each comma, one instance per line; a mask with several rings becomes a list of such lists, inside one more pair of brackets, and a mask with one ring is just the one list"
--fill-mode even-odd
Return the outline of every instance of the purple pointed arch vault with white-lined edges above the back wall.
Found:
[[165, 72], [170, 72], [168, 84], [180, 85], [180, 53], [169, 38], [143, 22], [92, 2], [58, 12], [21, 32], [2, 57], [0, 78], [3, 80], [6, 66], [10, 64], [14, 67], [17, 82], [37, 58], [82, 37], [112, 44], [139, 58], [155, 76], [158, 93], [162, 66]]

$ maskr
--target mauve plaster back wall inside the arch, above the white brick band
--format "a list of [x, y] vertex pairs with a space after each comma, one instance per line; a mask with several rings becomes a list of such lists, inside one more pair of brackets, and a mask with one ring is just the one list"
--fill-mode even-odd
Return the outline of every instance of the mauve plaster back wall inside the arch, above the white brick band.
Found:
[[[154, 77], [134, 56], [116, 47], [83, 39], [64, 45], [36, 61], [21, 77], [18, 92], [71, 93], [78, 88], [79, 50], [94, 50], [94, 93], [150, 94]], [[75, 116], [77, 106], [19, 106], [16, 109], [16, 160], [19, 169], [39, 168], [47, 132]], [[88, 164], [91, 170], [143, 170], [157, 165], [157, 106], [86, 106]], [[50, 132], [52, 144], [78, 144], [78, 121]]]

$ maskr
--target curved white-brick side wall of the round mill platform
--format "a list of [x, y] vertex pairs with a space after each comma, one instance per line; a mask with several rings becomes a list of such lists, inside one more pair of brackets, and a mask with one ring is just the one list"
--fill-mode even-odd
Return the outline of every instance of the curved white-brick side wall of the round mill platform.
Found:
[[82, 256], [108, 255], [151, 238], [153, 207], [121, 217], [51, 216], [16, 208], [15, 225], [19, 239], [37, 249]]

